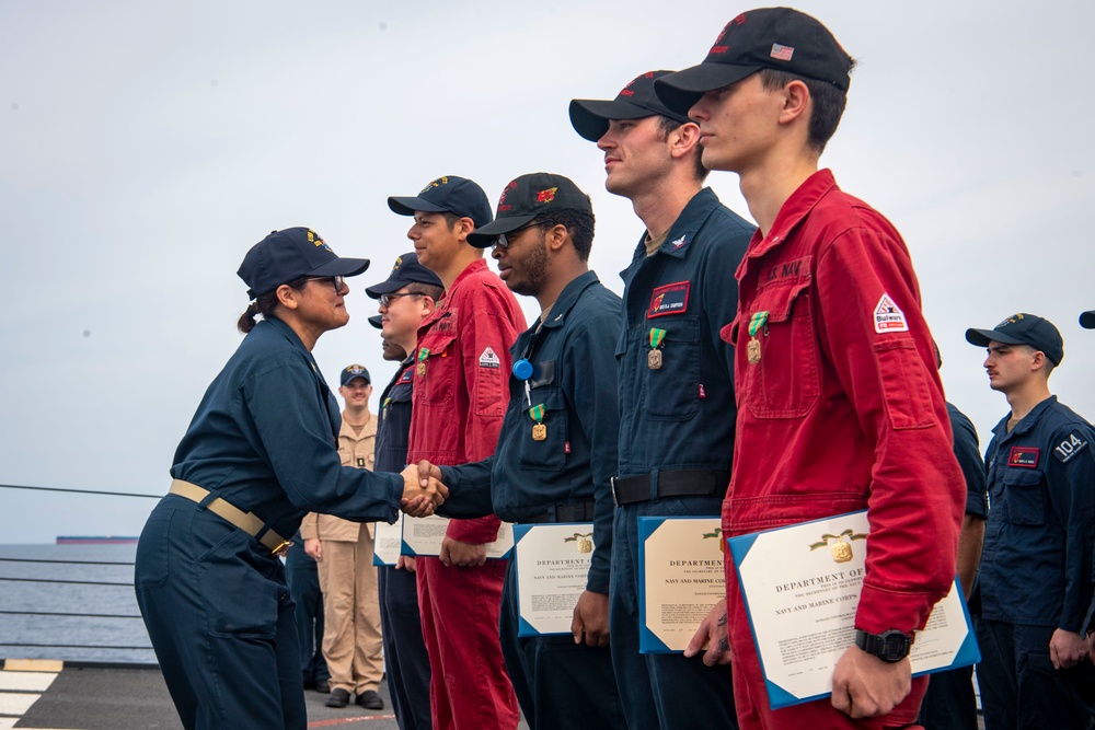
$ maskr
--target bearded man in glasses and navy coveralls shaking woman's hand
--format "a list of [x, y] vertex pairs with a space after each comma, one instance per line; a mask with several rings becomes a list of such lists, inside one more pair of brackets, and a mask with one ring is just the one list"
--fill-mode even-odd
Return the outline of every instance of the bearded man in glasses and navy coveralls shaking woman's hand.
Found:
[[[500, 241], [494, 257], [506, 285], [535, 296], [541, 316], [510, 349], [509, 403], [494, 455], [441, 467], [442, 480], [450, 479], [445, 484], [459, 485], [452, 490], [456, 501], [447, 502], [451, 509], [442, 514], [592, 522], [593, 553], [572, 634], [519, 637], [516, 560], [506, 572], [502, 651], [533, 730], [625, 727], [603, 635], [619, 425], [612, 341], [621, 306], [587, 268], [592, 227], [589, 198], [573, 181], [533, 173], [510, 183], [497, 219], [469, 236], [481, 247]], [[583, 613], [583, 599], [598, 609]], [[590, 625], [588, 635], [587, 619], [601, 624]]]

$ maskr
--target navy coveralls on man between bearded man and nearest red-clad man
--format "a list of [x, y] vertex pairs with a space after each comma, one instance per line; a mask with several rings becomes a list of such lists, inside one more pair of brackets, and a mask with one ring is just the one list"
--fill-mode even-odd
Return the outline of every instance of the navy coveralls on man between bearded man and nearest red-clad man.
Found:
[[[734, 347], [722, 340], [719, 327], [734, 321], [734, 268], [752, 232], [704, 188], [661, 247], [647, 256], [639, 242], [621, 274], [626, 286], [616, 344], [620, 471], [610, 604], [612, 658], [631, 727], [737, 722], [729, 664], [704, 667], [699, 657], [639, 653], [637, 548], [641, 517], [722, 512], [737, 407]], [[657, 369], [649, 359], [652, 329], [666, 333]]]

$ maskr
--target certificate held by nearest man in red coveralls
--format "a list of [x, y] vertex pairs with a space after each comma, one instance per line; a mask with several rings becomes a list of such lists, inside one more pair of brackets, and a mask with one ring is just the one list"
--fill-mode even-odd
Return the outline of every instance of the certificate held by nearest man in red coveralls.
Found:
[[[772, 709], [832, 694], [837, 661], [855, 639], [871, 547], [866, 511], [727, 541]], [[957, 580], [918, 631], [913, 676], [980, 661]]]

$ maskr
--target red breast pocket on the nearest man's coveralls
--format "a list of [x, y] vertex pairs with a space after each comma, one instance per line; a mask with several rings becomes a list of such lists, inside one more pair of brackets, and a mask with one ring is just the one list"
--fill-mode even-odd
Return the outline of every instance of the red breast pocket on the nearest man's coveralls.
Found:
[[[754, 335], [759, 359], [745, 366], [746, 404], [757, 418], [802, 418], [821, 392], [810, 279], [761, 289], [754, 309], [768, 317]], [[748, 326], [753, 314], [742, 312], [739, 326]]]

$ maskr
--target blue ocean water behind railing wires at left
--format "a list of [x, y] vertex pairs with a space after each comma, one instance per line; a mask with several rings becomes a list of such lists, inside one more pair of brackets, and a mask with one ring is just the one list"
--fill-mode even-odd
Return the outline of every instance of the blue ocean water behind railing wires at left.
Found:
[[134, 544], [0, 545], [0, 659], [154, 664], [134, 595], [136, 552]]

